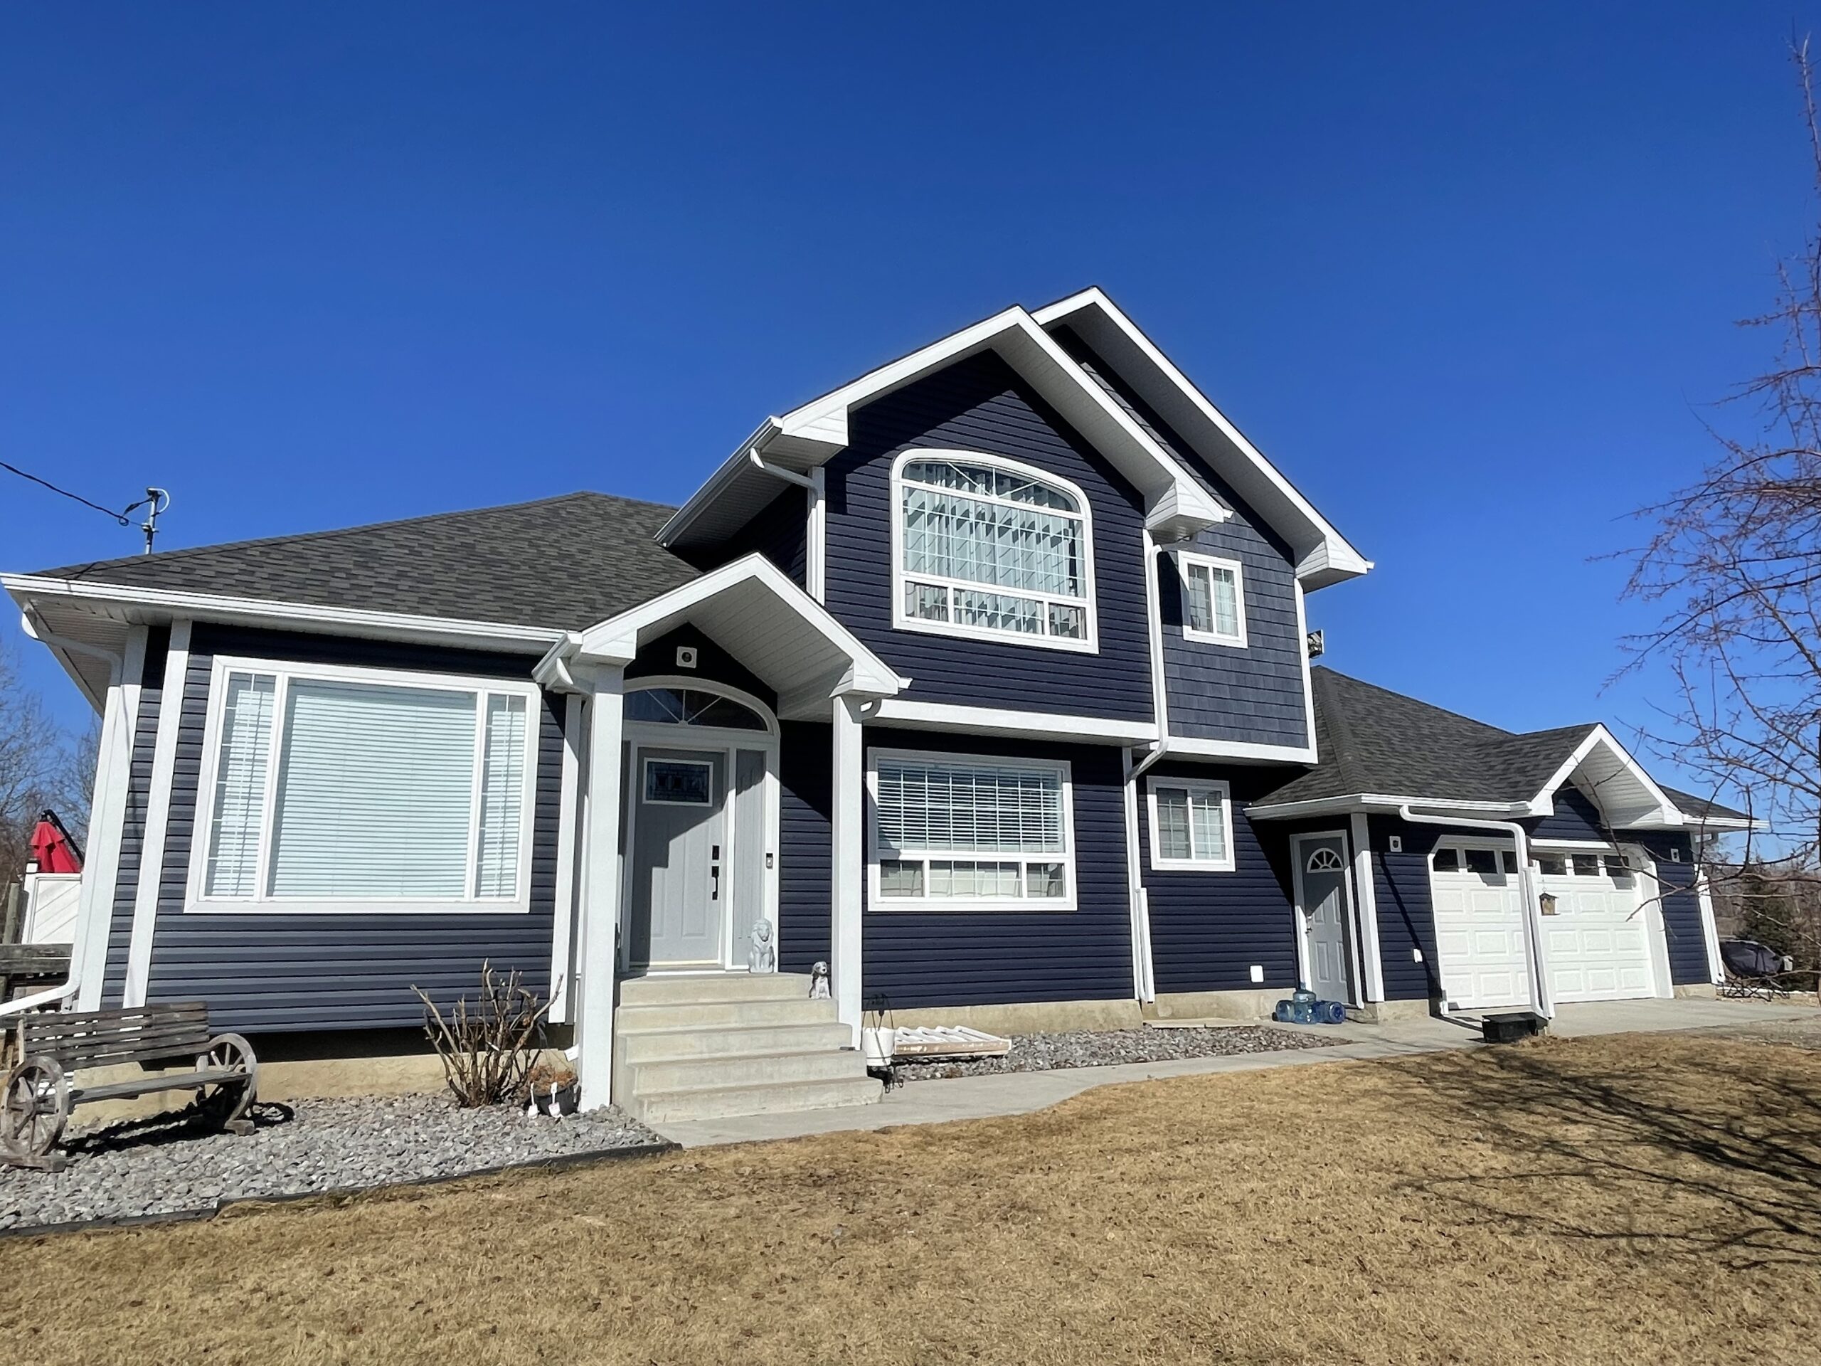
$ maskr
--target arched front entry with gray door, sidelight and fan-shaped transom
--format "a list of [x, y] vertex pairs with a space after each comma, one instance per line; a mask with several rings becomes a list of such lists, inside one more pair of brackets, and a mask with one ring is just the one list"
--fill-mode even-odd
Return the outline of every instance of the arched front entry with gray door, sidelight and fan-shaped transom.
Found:
[[745, 969], [776, 942], [778, 721], [701, 679], [626, 683], [621, 967]]

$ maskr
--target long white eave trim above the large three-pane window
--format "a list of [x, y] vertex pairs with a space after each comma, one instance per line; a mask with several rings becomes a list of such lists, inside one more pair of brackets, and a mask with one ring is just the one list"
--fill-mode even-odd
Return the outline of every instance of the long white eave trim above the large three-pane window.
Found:
[[193, 621], [228, 621], [249, 627], [291, 627], [295, 630], [377, 639], [410, 639], [426, 645], [490, 647], [524, 654], [535, 654], [563, 637], [563, 632], [554, 627], [517, 627], [504, 621], [463, 621], [402, 612], [366, 612], [350, 607], [315, 607], [310, 603], [282, 603], [259, 597], [137, 588], [118, 583], [47, 579], [36, 574], [0, 574], [0, 586], [13, 596], [13, 601], [22, 610], [29, 608], [35, 601], [62, 599], [64, 603], [91, 607], [100, 616], [113, 616], [126, 623], [189, 617]]

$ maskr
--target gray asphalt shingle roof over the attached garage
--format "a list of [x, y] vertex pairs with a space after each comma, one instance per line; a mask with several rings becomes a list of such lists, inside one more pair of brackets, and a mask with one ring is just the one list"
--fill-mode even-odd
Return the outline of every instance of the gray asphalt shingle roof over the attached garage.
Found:
[[[1309, 670], [1320, 763], [1256, 805], [1375, 792], [1431, 801], [1530, 801], [1593, 725], [1515, 734], [1333, 668]], [[1663, 789], [1686, 814], [1739, 812]]]

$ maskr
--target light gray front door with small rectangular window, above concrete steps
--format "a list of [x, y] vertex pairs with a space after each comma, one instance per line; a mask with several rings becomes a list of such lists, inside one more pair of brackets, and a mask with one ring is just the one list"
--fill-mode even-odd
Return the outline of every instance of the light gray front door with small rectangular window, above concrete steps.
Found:
[[719, 967], [725, 954], [727, 756], [636, 750], [632, 967]]

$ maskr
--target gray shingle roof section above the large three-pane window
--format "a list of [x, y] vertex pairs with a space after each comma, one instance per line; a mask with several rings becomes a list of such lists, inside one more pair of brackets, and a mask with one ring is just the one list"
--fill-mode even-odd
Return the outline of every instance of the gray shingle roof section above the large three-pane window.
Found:
[[565, 494], [337, 532], [162, 550], [46, 577], [581, 630], [696, 577], [652, 537], [676, 508]]

